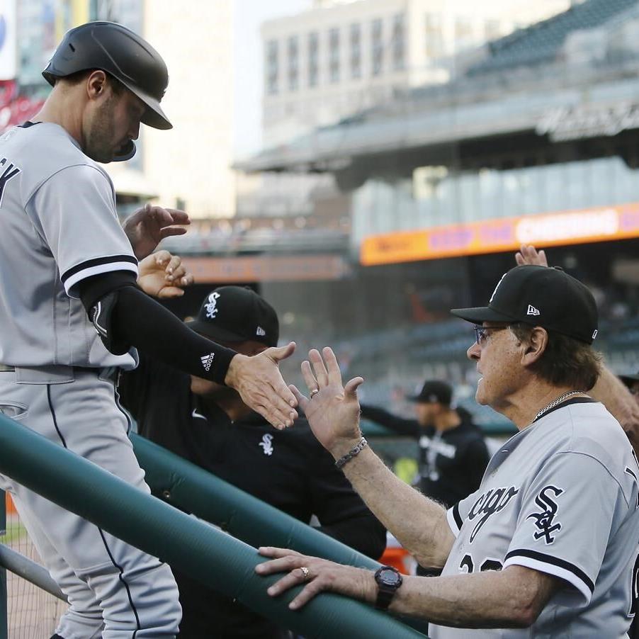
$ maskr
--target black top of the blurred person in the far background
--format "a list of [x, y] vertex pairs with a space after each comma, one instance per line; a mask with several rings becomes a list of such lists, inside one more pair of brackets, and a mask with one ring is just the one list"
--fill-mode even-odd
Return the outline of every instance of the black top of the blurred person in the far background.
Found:
[[461, 424], [439, 432], [420, 426], [416, 419], [397, 417], [383, 408], [361, 407], [362, 417], [417, 439], [419, 444], [419, 488], [446, 508], [479, 488], [490, 455], [470, 413], [458, 409]]

